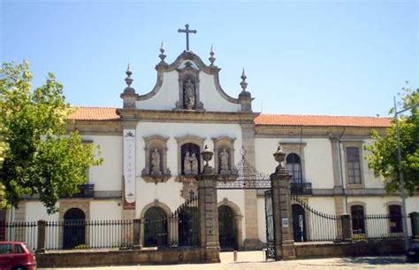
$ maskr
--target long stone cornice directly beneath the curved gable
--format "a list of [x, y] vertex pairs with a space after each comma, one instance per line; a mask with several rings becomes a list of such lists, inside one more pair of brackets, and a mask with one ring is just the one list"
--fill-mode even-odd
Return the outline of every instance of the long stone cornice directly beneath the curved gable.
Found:
[[195, 112], [118, 109], [123, 121], [254, 123], [256, 112]]

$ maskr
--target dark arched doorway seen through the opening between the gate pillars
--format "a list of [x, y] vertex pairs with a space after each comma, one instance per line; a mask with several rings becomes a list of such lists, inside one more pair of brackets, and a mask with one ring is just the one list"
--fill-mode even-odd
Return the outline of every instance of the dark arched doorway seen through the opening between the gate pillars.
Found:
[[218, 233], [222, 251], [237, 251], [237, 229], [234, 212], [228, 205], [218, 207]]

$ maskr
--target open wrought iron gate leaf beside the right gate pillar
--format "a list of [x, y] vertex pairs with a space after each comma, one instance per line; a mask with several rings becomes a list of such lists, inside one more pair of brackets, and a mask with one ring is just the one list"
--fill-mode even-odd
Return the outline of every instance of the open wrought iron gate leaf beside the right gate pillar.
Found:
[[266, 258], [275, 258], [275, 220], [273, 219], [272, 189], [266, 190], [265, 220], [266, 220]]

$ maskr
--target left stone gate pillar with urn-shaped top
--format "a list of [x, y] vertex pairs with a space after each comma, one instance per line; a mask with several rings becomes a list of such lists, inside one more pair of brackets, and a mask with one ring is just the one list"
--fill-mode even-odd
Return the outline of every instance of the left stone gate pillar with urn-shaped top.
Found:
[[218, 263], [219, 239], [218, 239], [218, 209], [217, 209], [217, 175], [209, 166], [213, 152], [207, 146], [201, 153], [206, 162], [202, 174], [196, 176], [198, 181], [198, 213], [199, 213], [199, 239], [204, 254], [203, 260], [208, 263]]

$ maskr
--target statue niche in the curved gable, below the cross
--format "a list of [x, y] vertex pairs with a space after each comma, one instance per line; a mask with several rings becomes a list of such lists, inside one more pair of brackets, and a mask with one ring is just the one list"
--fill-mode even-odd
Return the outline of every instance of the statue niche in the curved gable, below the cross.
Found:
[[176, 102], [175, 111], [205, 111], [200, 101], [199, 73], [200, 70], [194, 62], [186, 61], [179, 65], [179, 101]]

